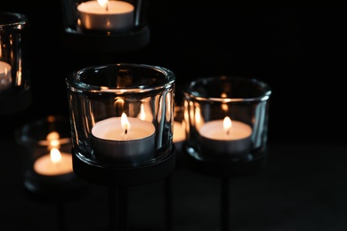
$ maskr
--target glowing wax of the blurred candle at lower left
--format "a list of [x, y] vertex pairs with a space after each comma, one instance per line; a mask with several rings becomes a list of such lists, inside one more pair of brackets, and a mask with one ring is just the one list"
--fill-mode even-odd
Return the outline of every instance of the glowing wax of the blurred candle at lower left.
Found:
[[61, 160], [53, 162], [51, 154], [42, 155], [34, 163], [34, 170], [44, 176], [69, 174], [73, 171], [72, 156], [68, 153], [61, 153]]

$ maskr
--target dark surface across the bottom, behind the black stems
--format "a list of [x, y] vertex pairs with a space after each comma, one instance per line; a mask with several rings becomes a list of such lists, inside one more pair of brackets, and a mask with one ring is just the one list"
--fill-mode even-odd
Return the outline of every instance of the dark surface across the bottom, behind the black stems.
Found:
[[[59, 207], [23, 188], [20, 149], [0, 145], [0, 230], [59, 230]], [[346, 153], [346, 145], [270, 145], [262, 171], [229, 180], [230, 230], [346, 230]], [[172, 230], [221, 230], [221, 179], [180, 164], [171, 180]], [[129, 187], [130, 230], [165, 230], [165, 192], [165, 180]], [[66, 230], [108, 230], [107, 187], [88, 184], [63, 205]]]

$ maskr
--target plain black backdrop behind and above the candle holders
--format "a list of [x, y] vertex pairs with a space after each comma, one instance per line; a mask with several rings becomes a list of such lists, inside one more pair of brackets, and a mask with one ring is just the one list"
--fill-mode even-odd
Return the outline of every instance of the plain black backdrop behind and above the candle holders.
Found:
[[62, 43], [59, 1], [38, 5], [13, 0], [0, 8], [28, 16], [33, 90], [28, 109], [2, 116], [2, 137], [31, 120], [68, 115], [64, 80], [72, 71], [133, 62], [173, 70], [179, 87], [204, 76], [260, 79], [273, 90], [270, 142], [345, 143], [345, 12], [255, 11], [223, 1], [149, 1], [149, 44], [105, 57]]

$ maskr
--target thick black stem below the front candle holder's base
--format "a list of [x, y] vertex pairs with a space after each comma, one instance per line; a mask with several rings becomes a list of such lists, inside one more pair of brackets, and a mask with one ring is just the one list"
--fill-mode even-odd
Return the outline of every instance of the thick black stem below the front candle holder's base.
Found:
[[128, 188], [109, 187], [109, 230], [128, 230]]

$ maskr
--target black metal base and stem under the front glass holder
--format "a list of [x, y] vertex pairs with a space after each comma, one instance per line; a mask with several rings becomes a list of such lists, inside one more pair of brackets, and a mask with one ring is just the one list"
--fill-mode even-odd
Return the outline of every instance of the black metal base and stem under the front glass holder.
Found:
[[171, 229], [170, 173], [175, 166], [174, 147], [170, 155], [155, 163], [133, 167], [107, 167], [86, 163], [79, 158], [74, 149], [73, 167], [78, 177], [109, 188], [109, 230], [128, 230], [127, 201], [128, 187], [149, 184], [165, 179], [166, 230]]

